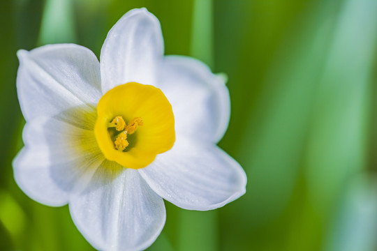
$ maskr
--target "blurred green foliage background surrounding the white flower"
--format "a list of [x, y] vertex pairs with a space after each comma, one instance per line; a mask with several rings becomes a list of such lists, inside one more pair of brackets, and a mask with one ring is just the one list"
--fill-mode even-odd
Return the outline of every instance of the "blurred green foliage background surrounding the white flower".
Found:
[[0, 0], [0, 250], [93, 250], [67, 206], [38, 204], [13, 179], [16, 51], [77, 43], [99, 56], [142, 6], [161, 21], [165, 54], [228, 77], [219, 146], [248, 176], [246, 194], [215, 211], [165, 202], [148, 250], [377, 250], [375, 0]]

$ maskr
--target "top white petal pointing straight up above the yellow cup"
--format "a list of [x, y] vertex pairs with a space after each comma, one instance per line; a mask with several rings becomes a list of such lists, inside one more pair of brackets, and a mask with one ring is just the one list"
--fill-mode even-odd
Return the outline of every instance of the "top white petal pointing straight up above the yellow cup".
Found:
[[102, 91], [119, 84], [156, 84], [163, 56], [160, 22], [145, 8], [133, 9], [112, 27], [101, 50]]

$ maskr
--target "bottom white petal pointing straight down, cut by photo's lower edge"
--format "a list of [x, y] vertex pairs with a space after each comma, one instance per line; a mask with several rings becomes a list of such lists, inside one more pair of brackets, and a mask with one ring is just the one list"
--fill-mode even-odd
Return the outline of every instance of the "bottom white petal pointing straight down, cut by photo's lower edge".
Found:
[[165, 205], [134, 169], [105, 161], [70, 203], [73, 222], [99, 250], [144, 250], [165, 224]]

